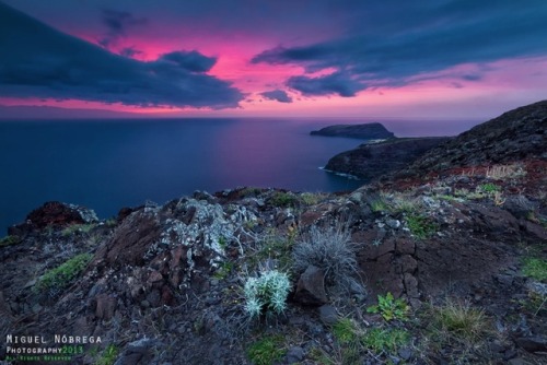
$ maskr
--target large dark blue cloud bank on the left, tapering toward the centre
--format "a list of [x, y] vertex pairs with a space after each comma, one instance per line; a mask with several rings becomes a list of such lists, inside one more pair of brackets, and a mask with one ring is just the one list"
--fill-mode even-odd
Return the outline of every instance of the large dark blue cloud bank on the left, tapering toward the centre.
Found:
[[138, 106], [236, 107], [243, 94], [205, 74], [214, 58], [178, 51], [141, 62], [0, 3], [0, 95]]

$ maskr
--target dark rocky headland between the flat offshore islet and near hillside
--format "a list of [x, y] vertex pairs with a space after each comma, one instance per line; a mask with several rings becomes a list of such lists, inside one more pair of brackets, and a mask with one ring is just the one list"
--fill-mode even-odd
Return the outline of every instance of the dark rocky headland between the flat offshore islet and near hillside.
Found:
[[377, 178], [408, 166], [427, 151], [449, 138], [405, 138], [381, 143], [361, 144], [359, 148], [331, 157], [326, 170], [356, 176], [361, 179]]

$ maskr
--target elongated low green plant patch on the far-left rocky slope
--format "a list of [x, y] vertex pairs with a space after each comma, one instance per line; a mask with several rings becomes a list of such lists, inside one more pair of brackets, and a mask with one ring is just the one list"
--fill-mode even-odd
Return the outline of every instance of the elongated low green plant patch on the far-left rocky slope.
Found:
[[72, 281], [85, 269], [93, 256], [91, 254], [81, 254], [59, 267], [46, 272], [35, 285], [38, 292], [48, 291], [56, 293], [72, 283]]

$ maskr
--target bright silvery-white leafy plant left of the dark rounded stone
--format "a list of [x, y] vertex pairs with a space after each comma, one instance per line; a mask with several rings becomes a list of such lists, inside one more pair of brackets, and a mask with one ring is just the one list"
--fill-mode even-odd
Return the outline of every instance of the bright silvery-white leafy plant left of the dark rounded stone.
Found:
[[245, 311], [251, 318], [270, 311], [280, 314], [287, 308], [290, 290], [289, 276], [277, 270], [264, 271], [258, 278], [248, 278], [243, 290]]

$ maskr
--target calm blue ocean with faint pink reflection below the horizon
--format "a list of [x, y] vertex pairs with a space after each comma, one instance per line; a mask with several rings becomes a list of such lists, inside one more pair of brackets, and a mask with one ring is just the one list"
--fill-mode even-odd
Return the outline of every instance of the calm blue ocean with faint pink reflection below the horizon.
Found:
[[[164, 203], [195, 190], [242, 186], [352, 190], [365, 181], [321, 167], [361, 141], [312, 137], [310, 131], [366, 121], [373, 120], [0, 121], [0, 237], [8, 226], [51, 200], [88, 207], [106, 219], [124, 207]], [[476, 123], [380, 121], [397, 137], [453, 136]]]

